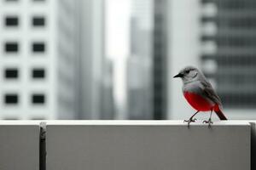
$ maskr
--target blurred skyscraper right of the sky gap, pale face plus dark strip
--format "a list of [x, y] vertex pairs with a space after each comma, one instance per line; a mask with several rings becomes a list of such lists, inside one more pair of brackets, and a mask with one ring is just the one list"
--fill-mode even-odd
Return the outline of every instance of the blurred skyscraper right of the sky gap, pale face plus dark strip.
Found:
[[131, 4], [128, 112], [131, 119], [165, 119], [166, 0], [133, 0]]

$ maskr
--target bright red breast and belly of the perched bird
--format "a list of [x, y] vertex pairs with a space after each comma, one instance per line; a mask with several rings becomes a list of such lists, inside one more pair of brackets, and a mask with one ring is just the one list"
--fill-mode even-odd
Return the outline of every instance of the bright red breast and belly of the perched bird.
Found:
[[209, 100], [199, 94], [184, 92], [184, 97], [196, 111], [211, 111], [218, 108], [218, 105], [212, 104]]

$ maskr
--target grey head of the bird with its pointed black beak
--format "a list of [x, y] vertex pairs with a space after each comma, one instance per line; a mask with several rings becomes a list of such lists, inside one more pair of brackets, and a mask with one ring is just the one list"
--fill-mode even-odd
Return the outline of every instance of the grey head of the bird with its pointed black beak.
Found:
[[183, 70], [179, 71], [178, 74], [173, 77], [180, 77], [183, 80], [183, 83], [195, 82], [197, 80], [205, 80], [203, 73], [199, 71], [194, 66], [187, 66]]

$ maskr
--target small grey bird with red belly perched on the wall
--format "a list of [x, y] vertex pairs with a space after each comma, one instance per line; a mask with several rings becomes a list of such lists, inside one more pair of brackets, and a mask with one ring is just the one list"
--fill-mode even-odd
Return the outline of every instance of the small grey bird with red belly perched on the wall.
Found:
[[204, 121], [209, 126], [212, 124], [212, 111], [216, 112], [220, 120], [227, 120], [221, 111], [222, 105], [218, 95], [201, 71], [193, 66], [187, 66], [173, 78], [176, 77], [182, 79], [183, 95], [196, 110], [195, 114], [189, 120], [184, 120], [184, 122], [188, 122], [188, 126], [190, 122], [195, 122], [196, 119], [194, 116], [200, 111], [211, 111], [209, 120]]

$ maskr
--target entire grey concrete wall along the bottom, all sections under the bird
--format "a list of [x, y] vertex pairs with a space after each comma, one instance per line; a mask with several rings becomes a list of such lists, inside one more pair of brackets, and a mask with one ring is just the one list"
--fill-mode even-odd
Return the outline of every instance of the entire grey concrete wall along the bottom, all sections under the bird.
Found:
[[255, 169], [255, 124], [47, 121], [40, 140], [40, 122], [0, 122], [0, 169]]

